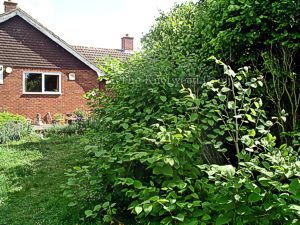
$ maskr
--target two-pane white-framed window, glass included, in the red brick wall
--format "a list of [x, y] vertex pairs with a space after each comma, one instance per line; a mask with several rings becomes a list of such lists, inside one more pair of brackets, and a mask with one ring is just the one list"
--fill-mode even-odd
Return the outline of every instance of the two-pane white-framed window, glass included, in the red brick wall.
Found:
[[24, 94], [61, 94], [60, 73], [24, 73]]

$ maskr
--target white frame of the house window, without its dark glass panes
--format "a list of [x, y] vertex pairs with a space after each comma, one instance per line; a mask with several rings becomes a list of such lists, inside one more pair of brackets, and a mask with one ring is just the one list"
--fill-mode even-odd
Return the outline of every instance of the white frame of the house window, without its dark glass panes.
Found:
[[[26, 92], [26, 74], [28, 73], [38, 73], [42, 75], [42, 91], [41, 92]], [[45, 76], [46, 75], [52, 75], [52, 76], [58, 76], [59, 77], [59, 91], [58, 92], [52, 92], [52, 91], [45, 91]], [[35, 71], [26, 71], [23, 73], [23, 94], [28, 95], [61, 95], [61, 73], [53, 73], [53, 72], [35, 72]]]

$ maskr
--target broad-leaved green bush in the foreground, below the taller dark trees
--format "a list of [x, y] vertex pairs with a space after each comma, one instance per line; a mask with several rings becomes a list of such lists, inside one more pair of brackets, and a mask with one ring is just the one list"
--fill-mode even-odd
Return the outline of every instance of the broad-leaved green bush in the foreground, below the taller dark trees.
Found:
[[[212, 93], [200, 98], [183, 89], [141, 111], [142, 97], [108, 96], [98, 128], [86, 134], [90, 164], [67, 172], [69, 206], [107, 224], [297, 224], [299, 158], [275, 147], [273, 123], [251, 98], [260, 78], [217, 63], [229, 79], [205, 83]], [[237, 157], [237, 168], [214, 165], [222, 154]]]

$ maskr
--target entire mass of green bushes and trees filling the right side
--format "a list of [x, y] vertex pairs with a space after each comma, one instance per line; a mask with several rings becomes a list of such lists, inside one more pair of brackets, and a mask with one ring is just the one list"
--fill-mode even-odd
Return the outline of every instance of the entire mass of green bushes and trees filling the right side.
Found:
[[[87, 94], [96, 120], [85, 133], [90, 163], [70, 169], [64, 187], [82, 220], [299, 223], [299, 157], [279, 136], [299, 120], [298, 6], [176, 5], [157, 18], [141, 53], [107, 61], [106, 92]], [[244, 65], [255, 73], [234, 71]]]

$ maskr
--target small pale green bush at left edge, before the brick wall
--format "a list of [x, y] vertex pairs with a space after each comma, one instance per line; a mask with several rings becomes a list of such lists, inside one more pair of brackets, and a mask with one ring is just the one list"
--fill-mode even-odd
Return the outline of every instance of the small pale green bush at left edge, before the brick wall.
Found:
[[25, 117], [8, 112], [0, 113], [0, 143], [20, 140], [31, 131], [32, 127]]

